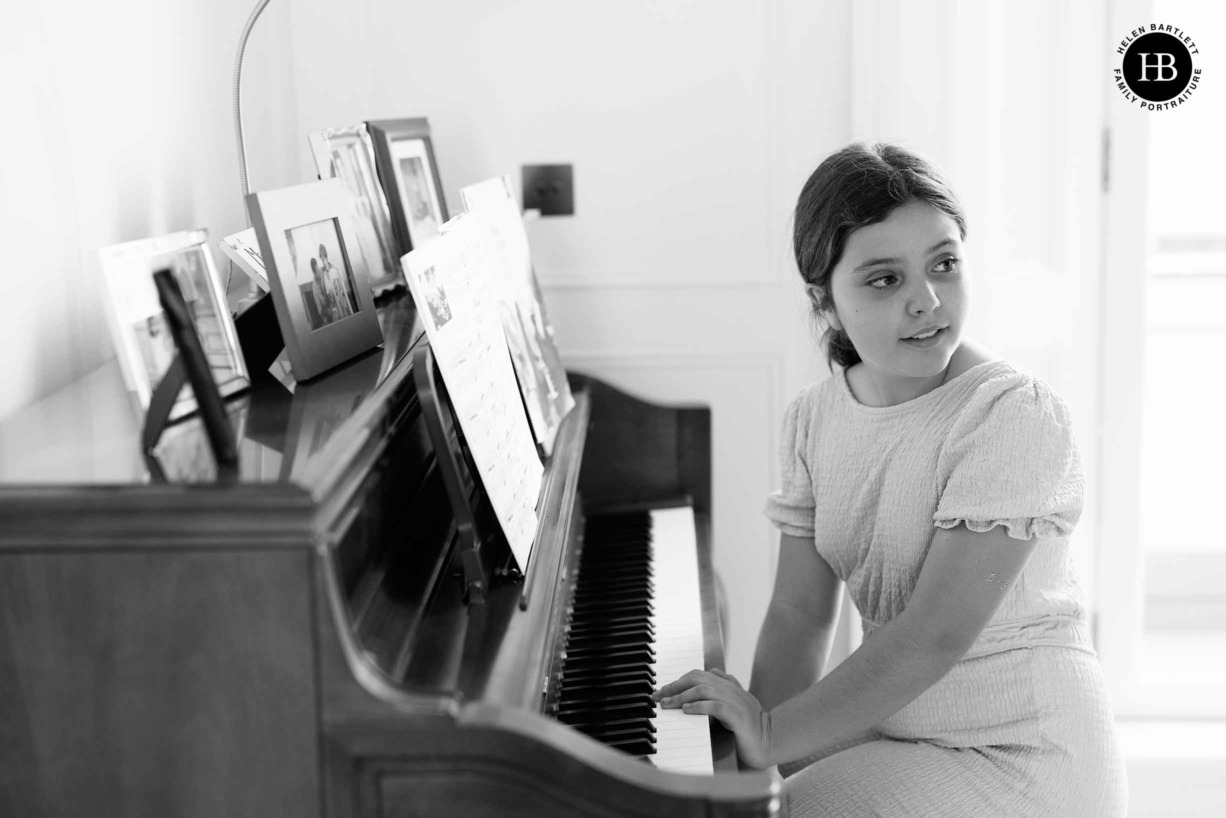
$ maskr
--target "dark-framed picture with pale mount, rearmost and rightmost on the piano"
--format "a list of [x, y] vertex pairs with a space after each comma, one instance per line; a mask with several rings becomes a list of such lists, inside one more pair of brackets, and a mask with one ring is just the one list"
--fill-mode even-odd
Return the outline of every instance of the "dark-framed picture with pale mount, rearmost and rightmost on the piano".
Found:
[[378, 119], [368, 121], [367, 130], [403, 256], [438, 235], [450, 218], [430, 125], [422, 117]]

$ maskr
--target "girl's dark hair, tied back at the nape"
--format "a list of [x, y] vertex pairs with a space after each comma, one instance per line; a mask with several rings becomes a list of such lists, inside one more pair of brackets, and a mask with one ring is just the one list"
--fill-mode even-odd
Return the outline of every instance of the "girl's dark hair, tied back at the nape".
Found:
[[[937, 168], [906, 148], [885, 142], [855, 142], [831, 153], [801, 190], [793, 217], [792, 245], [805, 285], [821, 298], [814, 316], [830, 309], [830, 276], [842, 258], [847, 237], [866, 224], [885, 221], [912, 199], [920, 199], [955, 222], [966, 238], [966, 216]], [[842, 368], [859, 363], [859, 353], [842, 330], [826, 326], [821, 336], [826, 363]]]

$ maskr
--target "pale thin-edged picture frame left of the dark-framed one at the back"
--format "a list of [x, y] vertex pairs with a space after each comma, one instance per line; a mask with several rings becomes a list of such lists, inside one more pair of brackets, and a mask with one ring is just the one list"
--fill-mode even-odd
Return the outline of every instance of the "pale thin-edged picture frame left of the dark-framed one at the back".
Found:
[[379, 184], [374, 143], [365, 123], [308, 134], [320, 179], [340, 179], [352, 196], [353, 226], [370, 272], [370, 287], [380, 296], [407, 287], [400, 269], [397, 238], [387, 199]]

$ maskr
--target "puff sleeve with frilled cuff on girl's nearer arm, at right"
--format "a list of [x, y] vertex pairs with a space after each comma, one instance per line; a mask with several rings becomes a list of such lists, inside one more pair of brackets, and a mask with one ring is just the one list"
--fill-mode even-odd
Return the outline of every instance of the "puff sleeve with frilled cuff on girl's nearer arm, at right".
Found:
[[1015, 540], [1067, 536], [1085, 477], [1064, 402], [1022, 374], [982, 384], [950, 429], [937, 467], [933, 522], [1003, 526]]

